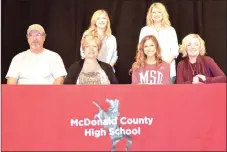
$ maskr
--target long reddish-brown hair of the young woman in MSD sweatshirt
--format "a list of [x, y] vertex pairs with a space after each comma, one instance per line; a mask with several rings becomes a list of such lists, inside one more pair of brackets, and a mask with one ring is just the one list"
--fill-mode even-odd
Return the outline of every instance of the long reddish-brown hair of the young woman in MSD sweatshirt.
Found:
[[144, 44], [148, 40], [152, 40], [155, 45], [156, 48], [155, 60], [157, 61], [157, 64], [162, 62], [161, 48], [159, 46], [158, 40], [156, 39], [155, 36], [148, 35], [145, 36], [137, 46], [137, 54], [135, 57], [136, 61], [132, 64], [132, 69], [130, 69], [130, 72], [133, 70], [137, 70], [139, 68], [144, 68], [147, 59], [147, 55], [144, 53]]

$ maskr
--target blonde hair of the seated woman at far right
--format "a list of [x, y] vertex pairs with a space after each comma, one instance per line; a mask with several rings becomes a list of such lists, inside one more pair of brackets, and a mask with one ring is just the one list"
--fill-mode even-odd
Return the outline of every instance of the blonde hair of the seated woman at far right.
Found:
[[192, 38], [197, 38], [200, 42], [200, 53], [199, 54], [202, 56], [206, 54], [205, 41], [198, 34], [191, 33], [183, 38], [182, 43], [180, 45], [180, 53], [182, 53], [182, 57], [188, 56], [187, 45]]

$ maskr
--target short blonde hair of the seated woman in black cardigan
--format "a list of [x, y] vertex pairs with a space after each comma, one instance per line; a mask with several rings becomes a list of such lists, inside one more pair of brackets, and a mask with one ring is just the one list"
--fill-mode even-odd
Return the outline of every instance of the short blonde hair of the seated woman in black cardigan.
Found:
[[86, 35], [82, 38], [82, 40], [81, 40], [82, 49], [85, 50], [85, 46], [90, 41], [95, 41], [96, 45], [98, 46], [98, 51], [100, 51], [100, 49], [102, 47], [102, 41], [97, 36], [93, 36], [93, 35]]

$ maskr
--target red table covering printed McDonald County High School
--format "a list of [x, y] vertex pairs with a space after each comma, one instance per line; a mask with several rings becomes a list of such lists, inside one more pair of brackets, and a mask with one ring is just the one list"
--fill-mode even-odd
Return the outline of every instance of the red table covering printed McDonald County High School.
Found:
[[225, 151], [226, 84], [2, 85], [3, 151], [127, 146]]

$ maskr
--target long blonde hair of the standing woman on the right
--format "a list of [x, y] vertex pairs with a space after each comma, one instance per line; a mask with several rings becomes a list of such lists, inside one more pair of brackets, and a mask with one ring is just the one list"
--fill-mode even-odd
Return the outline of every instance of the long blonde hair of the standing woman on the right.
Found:
[[152, 20], [152, 10], [153, 8], [157, 8], [159, 9], [161, 12], [162, 12], [162, 16], [163, 16], [163, 19], [162, 19], [162, 25], [164, 27], [169, 27], [171, 26], [171, 23], [169, 21], [169, 14], [166, 10], [166, 7], [162, 4], [162, 3], [153, 3], [150, 8], [148, 9], [148, 12], [147, 12], [147, 17], [146, 17], [146, 24], [147, 26], [152, 26], [154, 25], [154, 22]]

